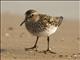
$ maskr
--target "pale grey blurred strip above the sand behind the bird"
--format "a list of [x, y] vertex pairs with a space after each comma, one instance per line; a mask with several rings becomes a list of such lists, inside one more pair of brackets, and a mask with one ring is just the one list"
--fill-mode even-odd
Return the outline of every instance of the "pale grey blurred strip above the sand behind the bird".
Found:
[[2, 12], [24, 15], [29, 9], [45, 12], [52, 16], [64, 16], [65, 18], [79, 18], [78, 1], [4, 1], [1, 3]]

